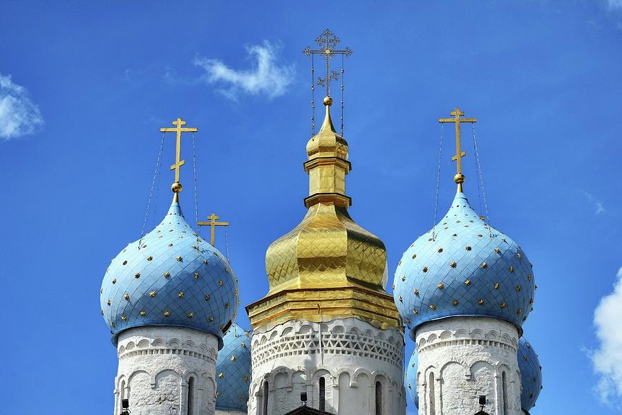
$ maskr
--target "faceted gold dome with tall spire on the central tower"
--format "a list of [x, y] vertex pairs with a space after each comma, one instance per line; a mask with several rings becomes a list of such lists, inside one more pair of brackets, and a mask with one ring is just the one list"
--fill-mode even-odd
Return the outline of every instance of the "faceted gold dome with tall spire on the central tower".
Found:
[[247, 306], [254, 328], [287, 320], [320, 322], [359, 317], [376, 326], [398, 326], [399, 316], [386, 287], [386, 250], [374, 234], [348, 214], [348, 143], [334, 131], [331, 100], [326, 118], [307, 144], [308, 212], [265, 255], [267, 295]]

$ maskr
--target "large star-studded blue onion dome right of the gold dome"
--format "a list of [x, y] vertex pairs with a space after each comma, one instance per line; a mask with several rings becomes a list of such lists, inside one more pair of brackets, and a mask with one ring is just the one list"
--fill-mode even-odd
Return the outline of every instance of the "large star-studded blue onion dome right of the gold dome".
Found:
[[486, 315], [520, 327], [536, 289], [520, 246], [487, 225], [458, 192], [433, 231], [404, 252], [395, 270], [393, 297], [411, 329], [454, 315]]

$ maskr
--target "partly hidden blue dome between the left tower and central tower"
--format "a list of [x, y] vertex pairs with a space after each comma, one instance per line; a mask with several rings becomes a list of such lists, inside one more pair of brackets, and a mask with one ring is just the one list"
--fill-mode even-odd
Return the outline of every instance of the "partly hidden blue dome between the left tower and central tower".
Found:
[[216, 360], [216, 409], [247, 412], [251, 381], [250, 333], [232, 324]]

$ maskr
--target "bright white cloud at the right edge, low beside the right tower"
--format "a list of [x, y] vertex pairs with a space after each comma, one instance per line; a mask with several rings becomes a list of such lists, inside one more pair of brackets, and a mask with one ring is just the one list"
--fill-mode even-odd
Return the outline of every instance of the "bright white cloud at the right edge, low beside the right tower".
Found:
[[591, 354], [594, 371], [600, 376], [595, 390], [607, 405], [622, 409], [622, 268], [614, 291], [601, 298], [594, 310], [594, 326], [599, 348]]

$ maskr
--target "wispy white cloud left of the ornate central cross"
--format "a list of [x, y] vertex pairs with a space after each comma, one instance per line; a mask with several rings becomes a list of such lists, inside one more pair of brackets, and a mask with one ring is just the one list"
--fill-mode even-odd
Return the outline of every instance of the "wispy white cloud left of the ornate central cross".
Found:
[[195, 57], [194, 64], [205, 69], [201, 79], [208, 84], [223, 85], [218, 91], [231, 100], [243, 94], [265, 94], [276, 98], [287, 92], [294, 80], [294, 65], [279, 64], [279, 46], [266, 40], [247, 46], [247, 59], [256, 61], [250, 69], [233, 69], [220, 59]]

